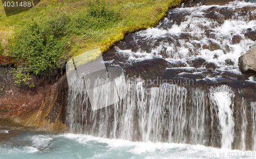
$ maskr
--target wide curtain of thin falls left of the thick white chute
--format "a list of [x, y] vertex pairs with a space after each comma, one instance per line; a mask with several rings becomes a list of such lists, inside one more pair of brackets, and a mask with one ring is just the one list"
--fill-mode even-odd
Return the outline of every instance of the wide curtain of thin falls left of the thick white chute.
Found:
[[166, 83], [146, 89], [140, 78], [128, 81], [127, 88], [125, 98], [93, 111], [84, 81], [74, 80], [68, 98], [70, 131], [131, 141], [205, 143], [203, 90]]

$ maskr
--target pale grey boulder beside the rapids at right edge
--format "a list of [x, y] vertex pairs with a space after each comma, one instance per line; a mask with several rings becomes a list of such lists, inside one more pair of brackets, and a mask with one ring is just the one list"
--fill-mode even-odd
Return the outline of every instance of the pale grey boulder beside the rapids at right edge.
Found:
[[256, 46], [239, 57], [239, 70], [246, 75], [256, 75]]

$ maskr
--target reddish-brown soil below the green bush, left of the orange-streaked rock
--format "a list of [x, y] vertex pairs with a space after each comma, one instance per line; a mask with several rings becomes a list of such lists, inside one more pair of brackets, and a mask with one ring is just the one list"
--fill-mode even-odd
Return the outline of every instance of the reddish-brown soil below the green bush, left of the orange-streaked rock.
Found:
[[57, 80], [50, 82], [32, 76], [35, 87], [15, 86], [9, 70], [9, 67], [0, 67], [0, 118], [26, 119], [40, 108], [46, 94], [56, 88]]

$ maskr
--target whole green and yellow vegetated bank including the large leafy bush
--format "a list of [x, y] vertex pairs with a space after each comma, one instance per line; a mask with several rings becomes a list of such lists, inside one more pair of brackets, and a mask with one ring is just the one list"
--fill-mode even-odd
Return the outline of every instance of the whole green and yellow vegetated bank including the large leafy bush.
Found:
[[55, 76], [85, 51], [109, 49], [125, 34], [155, 26], [182, 0], [41, 0], [6, 17], [0, 3], [0, 65], [14, 65], [16, 84], [30, 75]]

